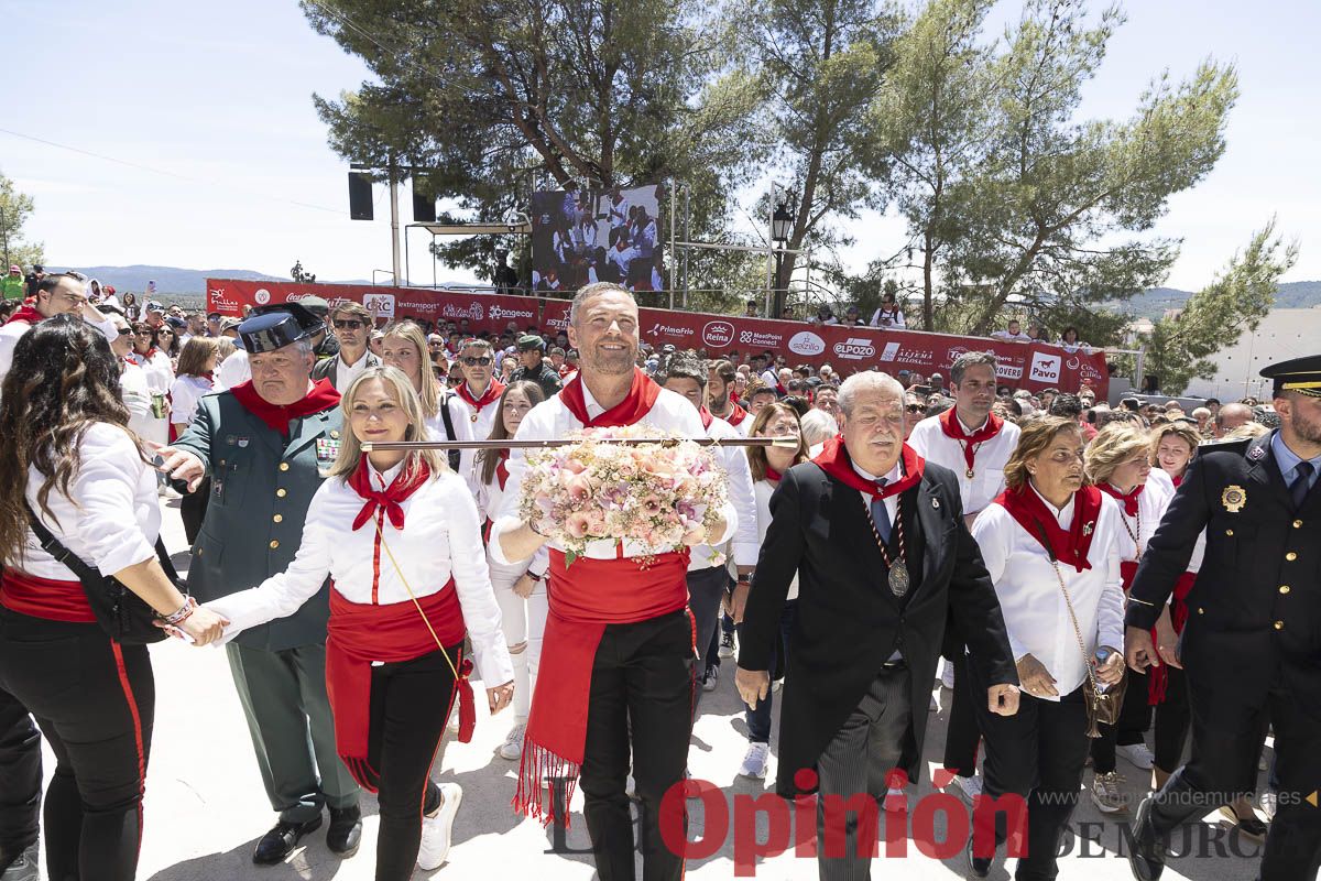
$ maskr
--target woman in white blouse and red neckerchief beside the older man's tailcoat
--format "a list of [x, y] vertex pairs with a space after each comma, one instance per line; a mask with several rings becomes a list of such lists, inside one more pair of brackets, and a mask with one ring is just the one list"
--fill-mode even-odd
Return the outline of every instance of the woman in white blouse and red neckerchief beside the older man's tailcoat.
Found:
[[[978, 701], [983, 791], [992, 799], [1028, 799], [1017, 877], [1053, 878], [1087, 758], [1083, 683], [1095, 676], [1112, 686], [1124, 675], [1124, 527], [1115, 501], [1086, 483], [1074, 420], [1029, 423], [1004, 473], [1007, 489], [974, 522], [972, 538], [1000, 600], [1024, 697], [1013, 716]], [[1005, 815], [997, 814], [996, 823], [999, 844]], [[993, 859], [988, 833], [979, 828], [970, 836], [968, 863], [978, 877], [987, 876]]]

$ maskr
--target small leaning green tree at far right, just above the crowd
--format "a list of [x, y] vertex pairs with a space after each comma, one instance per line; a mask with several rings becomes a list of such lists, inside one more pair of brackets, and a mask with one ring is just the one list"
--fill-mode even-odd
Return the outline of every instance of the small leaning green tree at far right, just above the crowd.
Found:
[[1160, 376], [1161, 391], [1180, 395], [1193, 379], [1214, 376], [1213, 355], [1244, 330], [1256, 330], [1275, 304], [1280, 276], [1297, 258], [1297, 243], [1284, 244], [1272, 219], [1176, 317], [1157, 321], [1143, 339], [1144, 370]]

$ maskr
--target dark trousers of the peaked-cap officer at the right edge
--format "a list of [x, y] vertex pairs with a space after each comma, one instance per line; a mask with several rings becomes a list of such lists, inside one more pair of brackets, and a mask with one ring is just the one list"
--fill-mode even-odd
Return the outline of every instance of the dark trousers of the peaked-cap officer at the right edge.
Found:
[[[1185, 671], [1190, 696], [1197, 671]], [[1211, 693], [1203, 689], [1203, 693]], [[1266, 839], [1260, 881], [1305, 881], [1321, 865], [1321, 810], [1305, 799], [1321, 781], [1321, 721], [1299, 705], [1283, 683], [1252, 713], [1218, 712], [1193, 700], [1193, 749], [1188, 763], [1152, 796], [1157, 835], [1251, 793], [1267, 722], [1275, 729], [1279, 807]]]

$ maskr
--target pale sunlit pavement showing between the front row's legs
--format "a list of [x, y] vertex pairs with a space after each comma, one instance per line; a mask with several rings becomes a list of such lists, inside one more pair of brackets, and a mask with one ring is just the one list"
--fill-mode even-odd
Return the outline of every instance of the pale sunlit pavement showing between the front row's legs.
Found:
[[[178, 502], [165, 506], [165, 539], [172, 549], [184, 551], [184, 532], [178, 520]], [[186, 553], [176, 556], [186, 564]], [[244, 585], [246, 586], [246, 585]], [[375, 799], [363, 799], [366, 814], [362, 849], [350, 860], [336, 859], [325, 847], [324, 827], [309, 836], [287, 864], [273, 868], [252, 865], [256, 840], [275, 822], [266, 802], [247, 729], [230, 682], [225, 656], [219, 650], [192, 649], [168, 642], [152, 649], [156, 668], [157, 709], [152, 744], [151, 769], [147, 778], [145, 839], [143, 841], [139, 878], [151, 881], [358, 881], [374, 876], [376, 847]], [[736, 777], [746, 746], [742, 713], [733, 683], [732, 663], [725, 664], [725, 678], [719, 688], [705, 695], [690, 750], [694, 777], [724, 787], [727, 799], [766, 794], [764, 781]], [[481, 695], [478, 686], [478, 695]], [[937, 692], [947, 705], [948, 691]], [[927, 728], [926, 758], [942, 754], [946, 712]], [[513, 724], [509, 711], [490, 719], [478, 709], [477, 733], [472, 744], [452, 745], [444, 765], [433, 770], [440, 781], [456, 781], [464, 787], [462, 807], [454, 826], [456, 845], [449, 861], [433, 873], [417, 872], [415, 877], [485, 880], [493, 877], [536, 878], [536, 881], [588, 881], [594, 877], [592, 863], [584, 853], [553, 853], [550, 833], [532, 820], [520, 820], [510, 810], [514, 795], [517, 763], [495, 754]], [[773, 744], [774, 746], [774, 744]], [[774, 769], [774, 759], [771, 759]], [[49, 752], [46, 769], [53, 766]], [[927, 762], [927, 769], [934, 767]], [[1120, 771], [1128, 778], [1127, 791], [1136, 804], [1144, 773], [1120, 759]], [[771, 770], [771, 777], [774, 771]], [[1087, 771], [1090, 782], [1090, 771]], [[918, 806], [930, 795], [930, 779], [910, 794], [910, 819], [937, 807], [938, 800]], [[778, 800], [768, 798], [768, 802]], [[750, 799], [738, 799], [748, 810]], [[731, 804], [727, 802], [727, 804]], [[690, 837], [696, 839], [707, 823], [701, 810], [690, 802], [692, 819]], [[587, 833], [580, 796], [575, 799], [572, 828], [567, 843], [583, 851]], [[727, 808], [733, 812], [733, 807]], [[966, 816], [966, 815], [960, 815]], [[1125, 847], [1127, 826], [1120, 820], [1102, 819], [1086, 793], [1074, 814], [1073, 829], [1083, 829], [1091, 839], [1079, 845], [1069, 843], [1069, 855], [1061, 863], [1062, 878], [1129, 878], [1127, 860], [1119, 859]], [[941, 811], [935, 812], [937, 840], [946, 833]], [[729, 828], [734, 828], [734, 823]], [[733, 833], [725, 836], [712, 856], [688, 861], [688, 877], [695, 881], [736, 877]], [[768, 837], [766, 816], [757, 820], [757, 840]], [[1258, 845], [1230, 833], [1227, 824], [1214, 815], [1192, 837], [1198, 856], [1172, 860], [1166, 878], [1252, 878], [1256, 874]], [[882, 839], [882, 848], [885, 848]], [[890, 881], [918, 878], [964, 877], [962, 853], [941, 861], [918, 852], [908, 841], [904, 857], [877, 860], [875, 877]], [[1127, 851], [1124, 851], [1127, 852]], [[1235, 853], [1254, 855], [1248, 859]], [[1008, 860], [1012, 865], [1015, 861]], [[996, 863], [991, 877], [1012, 877], [1004, 859]], [[816, 877], [815, 860], [786, 855], [760, 860], [757, 878], [774, 881]], [[641, 864], [638, 877], [641, 878]], [[749, 877], [744, 873], [742, 877]]]

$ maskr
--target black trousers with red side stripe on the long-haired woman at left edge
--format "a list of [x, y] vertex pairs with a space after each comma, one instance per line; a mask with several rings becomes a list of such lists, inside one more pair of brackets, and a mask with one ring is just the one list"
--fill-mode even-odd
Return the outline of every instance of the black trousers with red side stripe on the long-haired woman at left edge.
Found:
[[147, 646], [0, 609], [0, 692], [32, 711], [55, 754], [46, 874], [132, 881], [156, 713]]

